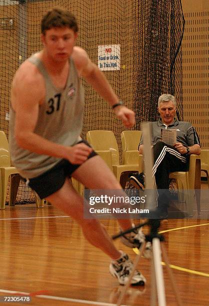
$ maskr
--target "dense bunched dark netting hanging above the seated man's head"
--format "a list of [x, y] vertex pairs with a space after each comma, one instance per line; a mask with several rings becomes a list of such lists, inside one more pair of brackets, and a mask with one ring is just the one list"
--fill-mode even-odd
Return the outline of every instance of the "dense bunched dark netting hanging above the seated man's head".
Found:
[[[145, 4], [146, 3], [146, 4]], [[138, 2], [135, 35], [139, 61], [133, 109], [136, 127], [158, 119], [157, 100], [162, 93], [175, 95], [177, 114], [183, 118], [181, 40], [184, 18], [180, 0]], [[141, 20], [144, 22], [140, 24]], [[138, 24], [140, 24], [138, 26]]]

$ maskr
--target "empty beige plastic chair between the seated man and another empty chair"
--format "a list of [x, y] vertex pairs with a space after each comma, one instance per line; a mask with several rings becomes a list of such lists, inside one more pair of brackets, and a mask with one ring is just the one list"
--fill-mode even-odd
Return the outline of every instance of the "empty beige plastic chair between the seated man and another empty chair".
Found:
[[121, 132], [122, 164], [138, 164], [138, 144], [141, 130], [124, 130]]

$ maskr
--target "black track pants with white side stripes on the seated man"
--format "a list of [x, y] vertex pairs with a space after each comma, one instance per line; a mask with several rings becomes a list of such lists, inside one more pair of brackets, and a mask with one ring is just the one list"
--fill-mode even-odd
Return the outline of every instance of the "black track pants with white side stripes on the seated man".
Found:
[[169, 173], [187, 171], [189, 157], [180, 154], [175, 148], [162, 141], [153, 145], [153, 155], [152, 175], [158, 191], [157, 206], [163, 209], [169, 205]]

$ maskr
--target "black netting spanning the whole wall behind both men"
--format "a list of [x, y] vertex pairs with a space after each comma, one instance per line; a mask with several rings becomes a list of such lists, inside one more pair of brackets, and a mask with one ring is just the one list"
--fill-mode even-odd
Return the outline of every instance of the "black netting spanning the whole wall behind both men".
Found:
[[[8, 134], [8, 104], [16, 68], [41, 49], [40, 19], [51, 7], [75, 14], [79, 24], [77, 45], [97, 62], [98, 45], [120, 45], [120, 70], [104, 71], [125, 105], [136, 112], [136, 125], [157, 118], [161, 93], [177, 98], [182, 118], [180, 41], [183, 15], [180, 0], [0, 0], [0, 129]], [[119, 148], [124, 130], [110, 106], [84, 81], [85, 111], [82, 137], [91, 129], [110, 129]], [[18, 200], [33, 200], [21, 183]]]

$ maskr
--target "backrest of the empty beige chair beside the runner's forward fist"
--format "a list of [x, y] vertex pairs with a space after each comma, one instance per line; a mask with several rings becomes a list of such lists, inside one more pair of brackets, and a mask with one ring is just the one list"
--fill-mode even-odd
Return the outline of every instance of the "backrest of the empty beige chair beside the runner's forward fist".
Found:
[[89, 130], [87, 132], [87, 141], [92, 145], [95, 151], [110, 150], [112, 165], [119, 164], [117, 141], [111, 130]]

